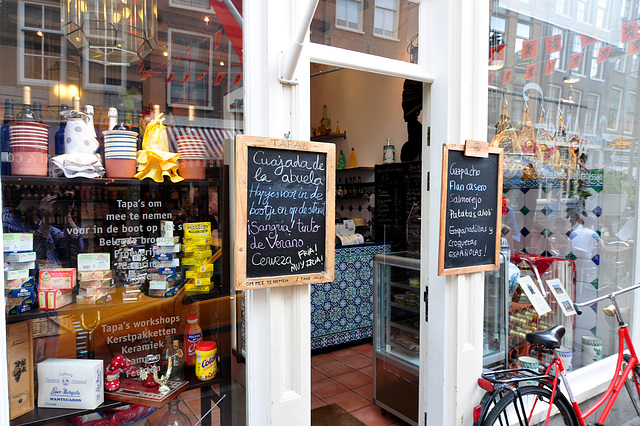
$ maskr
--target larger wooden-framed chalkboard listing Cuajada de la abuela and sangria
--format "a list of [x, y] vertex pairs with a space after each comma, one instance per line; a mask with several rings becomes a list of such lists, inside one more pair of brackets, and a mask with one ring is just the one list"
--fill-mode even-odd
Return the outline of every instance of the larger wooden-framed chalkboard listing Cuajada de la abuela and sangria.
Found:
[[333, 281], [335, 145], [236, 136], [236, 290]]

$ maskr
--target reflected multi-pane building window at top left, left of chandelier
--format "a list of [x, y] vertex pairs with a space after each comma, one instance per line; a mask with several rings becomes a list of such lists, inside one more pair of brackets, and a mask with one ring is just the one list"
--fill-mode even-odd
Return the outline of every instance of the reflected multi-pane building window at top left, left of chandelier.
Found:
[[22, 3], [20, 20], [20, 75], [25, 82], [53, 82], [62, 79], [63, 35], [60, 6]]

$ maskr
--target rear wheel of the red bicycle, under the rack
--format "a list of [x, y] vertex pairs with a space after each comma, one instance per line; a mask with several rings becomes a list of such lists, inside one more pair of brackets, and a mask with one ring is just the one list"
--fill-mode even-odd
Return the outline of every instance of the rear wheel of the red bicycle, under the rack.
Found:
[[[517, 406], [515, 392], [506, 393], [489, 412], [482, 426], [513, 426], [513, 425], [544, 425], [551, 399], [551, 390], [541, 386], [524, 386], [520, 388], [522, 405], [526, 413], [530, 414], [535, 401], [535, 413], [527, 422], [527, 416], [522, 413], [522, 407]], [[554, 416], [550, 425], [578, 426], [573, 407], [563, 397], [558, 395], [553, 403]]]

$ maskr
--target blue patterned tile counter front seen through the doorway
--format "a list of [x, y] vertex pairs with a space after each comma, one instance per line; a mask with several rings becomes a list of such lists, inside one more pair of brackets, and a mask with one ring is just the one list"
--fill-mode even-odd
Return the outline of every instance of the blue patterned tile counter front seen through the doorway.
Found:
[[373, 256], [389, 244], [336, 248], [333, 282], [311, 286], [311, 349], [372, 336]]

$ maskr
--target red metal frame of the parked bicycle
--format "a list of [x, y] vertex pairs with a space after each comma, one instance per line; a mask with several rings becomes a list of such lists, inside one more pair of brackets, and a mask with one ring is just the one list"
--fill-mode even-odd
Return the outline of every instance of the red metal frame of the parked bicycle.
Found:
[[[622, 372], [622, 374], [619, 374], [620, 369], [622, 368], [622, 361], [624, 360], [625, 345], [626, 345], [626, 348], [629, 350], [631, 356], [627, 361], [627, 366], [625, 367], [624, 371]], [[600, 415], [600, 417], [598, 418], [598, 423], [600, 424], [604, 423], [604, 421], [607, 419], [607, 416], [611, 412], [611, 408], [613, 407], [613, 404], [615, 403], [616, 398], [618, 398], [618, 395], [620, 394], [620, 390], [624, 386], [625, 380], [638, 364], [639, 364], [638, 356], [636, 355], [636, 351], [633, 347], [633, 343], [631, 342], [631, 336], [629, 335], [629, 327], [626, 324], [621, 324], [620, 327], [618, 328], [618, 360], [616, 362], [616, 370], [614, 372], [614, 376], [612, 377], [611, 383], [609, 384], [609, 387], [604, 392], [602, 397], [600, 397], [600, 399], [595, 404], [593, 404], [593, 406], [587, 409], [584, 413], [580, 411], [580, 407], [576, 402], [576, 398], [573, 396], [573, 392], [571, 391], [569, 381], [567, 380], [567, 375], [566, 375], [564, 366], [562, 365], [562, 361], [557, 356], [557, 353], [555, 352], [555, 350], [554, 350], [554, 359], [549, 364], [549, 367], [547, 367], [545, 374], [549, 375], [549, 372], [551, 371], [553, 366], [556, 367], [556, 372], [552, 376], [553, 382], [551, 383], [553, 388], [551, 393], [552, 400], [555, 397], [556, 392], [558, 390], [558, 386], [557, 386], [558, 377], [560, 377], [562, 379], [562, 382], [564, 383], [565, 388], [567, 389], [567, 393], [569, 394], [569, 401], [571, 402], [571, 405], [573, 406], [573, 409], [578, 417], [580, 426], [586, 426], [585, 419], [589, 417], [591, 414], [593, 414], [598, 408], [600, 408], [606, 402], [604, 410]], [[616, 377], [616, 375], [618, 377]], [[632, 375], [632, 377], [634, 378], [633, 379], [634, 384], [638, 389], [638, 393], [640, 394], [640, 384], [636, 381], [635, 375]], [[551, 406], [549, 406], [549, 410], [551, 410]], [[545, 422], [545, 425], [549, 423], [549, 414], [550, 413], [547, 414], [547, 420]]]

